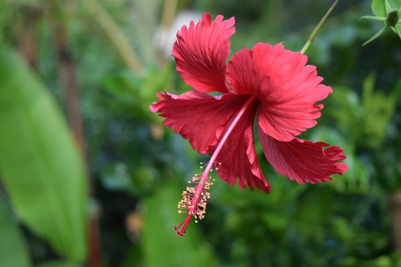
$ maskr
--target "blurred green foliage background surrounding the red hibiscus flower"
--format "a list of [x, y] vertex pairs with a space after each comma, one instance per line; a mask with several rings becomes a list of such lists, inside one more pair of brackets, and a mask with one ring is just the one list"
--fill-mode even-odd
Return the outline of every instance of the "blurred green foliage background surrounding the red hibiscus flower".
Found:
[[[348, 171], [300, 185], [264, 159], [271, 193], [216, 180], [179, 237], [176, 202], [199, 161], [149, 111], [186, 86], [176, 31], [235, 16], [231, 56], [300, 51], [332, 0], [1, 0], [0, 266], [401, 266], [401, 41], [371, 0], [343, 0], [307, 51], [334, 93], [302, 138]], [[231, 57], [230, 56], [230, 57]], [[398, 250], [397, 250], [398, 249]]]

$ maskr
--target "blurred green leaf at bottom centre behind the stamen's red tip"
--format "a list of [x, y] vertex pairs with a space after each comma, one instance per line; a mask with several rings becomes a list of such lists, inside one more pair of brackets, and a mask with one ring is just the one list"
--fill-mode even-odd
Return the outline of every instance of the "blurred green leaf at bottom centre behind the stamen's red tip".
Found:
[[194, 220], [183, 237], [173, 229], [185, 218], [177, 212], [176, 203], [181, 192], [180, 188], [166, 186], [145, 201], [143, 244], [146, 266], [217, 266], [215, 256]]

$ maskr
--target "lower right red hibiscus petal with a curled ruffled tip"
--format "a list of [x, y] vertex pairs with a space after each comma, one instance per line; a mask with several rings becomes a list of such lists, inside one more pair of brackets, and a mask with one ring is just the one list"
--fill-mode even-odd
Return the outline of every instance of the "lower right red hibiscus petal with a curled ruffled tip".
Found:
[[[258, 127], [263, 152], [273, 168], [300, 184], [331, 181], [329, 176], [347, 170], [343, 150], [324, 142], [310, 142], [295, 138], [290, 142], [278, 141]], [[322, 147], [329, 146], [326, 149]]]

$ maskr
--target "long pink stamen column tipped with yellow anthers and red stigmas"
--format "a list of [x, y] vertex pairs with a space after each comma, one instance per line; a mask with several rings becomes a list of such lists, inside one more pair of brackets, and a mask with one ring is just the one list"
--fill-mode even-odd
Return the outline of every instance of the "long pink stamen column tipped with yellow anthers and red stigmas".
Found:
[[[221, 141], [217, 145], [217, 148], [215, 152], [213, 152], [213, 155], [210, 159], [210, 161], [207, 163], [206, 168], [205, 165], [201, 164], [201, 169], [205, 169], [205, 171], [202, 173], [201, 180], [198, 181], [198, 176], [200, 174], [195, 174], [192, 177], [192, 183], [196, 184], [195, 187], [187, 187], [186, 191], [182, 192], [183, 199], [180, 202], [178, 202], [178, 208], [186, 209], [188, 211], [188, 215], [186, 216], [185, 220], [180, 223], [180, 225], [175, 226], [174, 230], [177, 230], [179, 227], [181, 229], [177, 232], [178, 235], [183, 236], [184, 233], [186, 233], [186, 227], [188, 227], [188, 224], [192, 218], [192, 216], [195, 217], [195, 223], [198, 222], [197, 218], [201, 220], [202, 218], [205, 217], [205, 212], [206, 212], [206, 201], [207, 198], [210, 198], [209, 192], [207, 192], [207, 189], [210, 189], [210, 186], [213, 185], [213, 182], [210, 180], [212, 179], [211, 176], [209, 176], [209, 172], [213, 170], [213, 165], [215, 169], [217, 170], [217, 164], [215, 162], [217, 155], [219, 155], [219, 152], [221, 148], [223, 148], [224, 143], [226, 142], [227, 138], [233, 131], [235, 125], [237, 125], [239, 119], [241, 119], [242, 115], [245, 113], [247, 108], [252, 104], [252, 102], [255, 100], [255, 96], [251, 96], [245, 104], [241, 107], [237, 115], [235, 116], [233, 122], [231, 125], [228, 127], [227, 131], [225, 132], [223, 138], [221, 138]], [[221, 162], [219, 162], [219, 165]], [[213, 179], [214, 180], [214, 179]], [[188, 181], [188, 183], [191, 183], [191, 181]], [[188, 191], [188, 192], [187, 192]], [[202, 209], [201, 209], [202, 208]], [[178, 210], [179, 213], [185, 212], [183, 210]]]

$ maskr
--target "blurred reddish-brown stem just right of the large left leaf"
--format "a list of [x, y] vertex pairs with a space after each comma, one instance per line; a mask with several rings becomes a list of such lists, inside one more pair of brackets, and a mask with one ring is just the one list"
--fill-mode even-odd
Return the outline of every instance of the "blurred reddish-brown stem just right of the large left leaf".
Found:
[[[59, 83], [63, 89], [67, 114], [75, 140], [78, 144], [81, 156], [86, 162], [85, 139], [83, 135], [82, 119], [79, 111], [79, 92], [75, 79], [75, 65], [67, 49], [67, 30], [65, 25], [55, 22], [55, 44], [57, 50], [57, 68]], [[87, 168], [88, 169], [88, 168]], [[87, 171], [90, 196], [93, 198], [94, 190]], [[88, 244], [88, 266], [98, 267], [101, 265], [100, 230], [97, 214], [89, 213], [87, 229]]]

